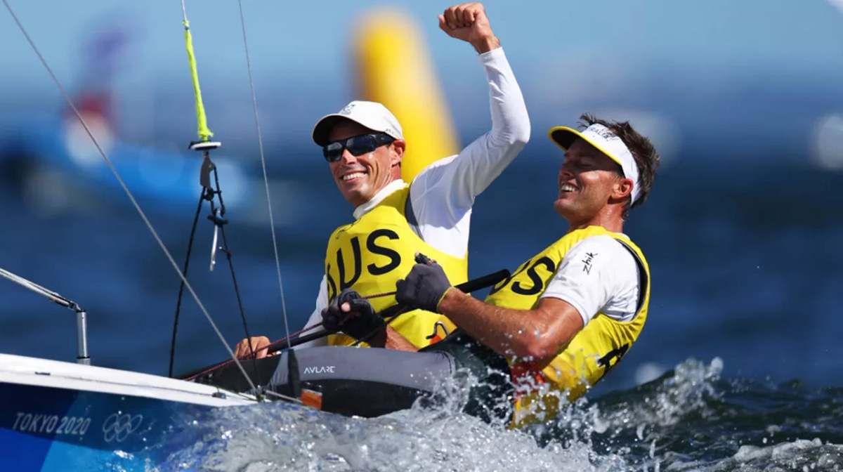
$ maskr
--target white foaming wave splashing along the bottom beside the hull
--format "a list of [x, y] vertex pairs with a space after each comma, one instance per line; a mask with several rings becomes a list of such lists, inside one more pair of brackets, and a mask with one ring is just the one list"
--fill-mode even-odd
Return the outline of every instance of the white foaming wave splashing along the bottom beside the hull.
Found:
[[184, 447], [160, 470], [840, 469], [843, 389], [724, 379], [722, 368], [690, 358], [516, 431], [459, 413], [462, 400], [373, 419], [283, 403], [224, 409], [185, 421], [174, 432]]

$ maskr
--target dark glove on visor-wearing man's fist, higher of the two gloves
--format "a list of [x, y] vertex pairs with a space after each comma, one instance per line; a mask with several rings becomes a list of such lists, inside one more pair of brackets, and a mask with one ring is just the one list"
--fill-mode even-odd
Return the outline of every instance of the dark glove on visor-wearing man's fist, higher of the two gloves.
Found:
[[416, 255], [416, 261], [419, 263], [407, 277], [395, 283], [395, 300], [409, 308], [438, 313], [439, 302], [451, 288], [451, 282], [436, 261], [421, 254]]

